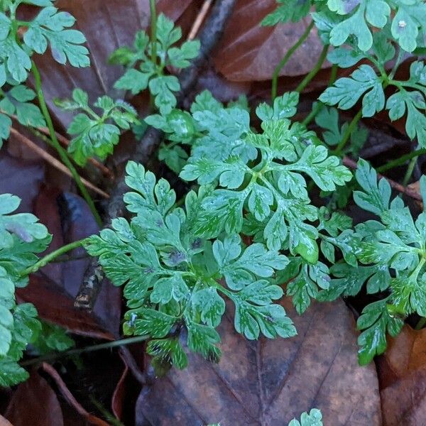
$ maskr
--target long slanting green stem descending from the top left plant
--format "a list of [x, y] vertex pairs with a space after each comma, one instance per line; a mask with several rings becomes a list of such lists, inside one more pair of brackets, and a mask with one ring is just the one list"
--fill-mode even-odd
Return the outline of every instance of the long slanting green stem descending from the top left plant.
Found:
[[72, 178], [74, 178], [75, 183], [77, 184], [78, 189], [82, 193], [84, 200], [89, 205], [89, 208], [94, 216], [94, 219], [96, 219], [97, 224], [99, 226], [102, 226], [102, 219], [99, 216], [99, 213], [97, 212], [96, 207], [94, 206], [92, 197], [90, 197], [86, 187], [82, 184], [82, 181], [80, 180], [80, 176], [78, 175], [77, 170], [75, 170], [75, 167], [74, 165], [72, 165], [70, 158], [68, 158], [67, 151], [65, 151], [65, 149], [62, 148], [62, 146], [60, 146], [60, 143], [58, 142], [58, 138], [56, 137], [56, 133], [55, 133], [55, 128], [53, 127], [53, 121], [52, 121], [52, 118], [50, 117], [48, 106], [46, 105], [46, 102], [45, 102], [43, 89], [41, 88], [40, 72], [38, 71], [38, 68], [35, 65], [34, 61], [32, 61], [31, 71], [33, 72], [34, 79], [35, 79], [35, 92], [37, 92], [40, 109], [41, 109], [41, 112], [43, 113], [46, 124], [48, 125], [50, 140], [52, 141], [53, 147], [55, 148], [56, 151], [58, 151], [58, 154], [60, 156], [60, 159], [62, 160], [62, 163], [64, 163], [67, 166], [67, 168], [70, 169]]

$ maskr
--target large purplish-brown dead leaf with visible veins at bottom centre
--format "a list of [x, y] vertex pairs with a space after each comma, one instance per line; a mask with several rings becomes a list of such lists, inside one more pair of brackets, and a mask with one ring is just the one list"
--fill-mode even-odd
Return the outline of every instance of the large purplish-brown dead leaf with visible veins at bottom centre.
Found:
[[141, 393], [136, 425], [283, 426], [314, 407], [327, 426], [381, 425], [376, 369], [358, 365], [344, 302], [315, 303], [301, 317], [289, 300], [284, 307], [297, 337], [249, 342], [224, 317], [219, 364], [190, 354], [188, 368]]

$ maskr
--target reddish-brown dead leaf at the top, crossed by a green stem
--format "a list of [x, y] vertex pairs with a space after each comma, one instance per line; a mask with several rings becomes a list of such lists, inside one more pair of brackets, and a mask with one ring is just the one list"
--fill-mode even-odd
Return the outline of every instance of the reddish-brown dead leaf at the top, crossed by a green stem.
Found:
[[[270, 80], [278, 62], [296, 43], [310, 18], [298, 23], [262, 27], [262, 19], [276, 7], [275, 0], [238, 0], [221, 40], [214, 64], [228, 80]], [[280, 75], [307, 74], [317, 62], [322, 43], [312, 31]]]

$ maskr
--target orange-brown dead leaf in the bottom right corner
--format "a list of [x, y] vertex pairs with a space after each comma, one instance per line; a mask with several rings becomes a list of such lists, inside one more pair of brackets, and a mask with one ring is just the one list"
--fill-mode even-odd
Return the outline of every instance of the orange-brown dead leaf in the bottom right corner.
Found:
[[384, 426], [426, 425], [426, 329], [389, 339], [378, 360]]

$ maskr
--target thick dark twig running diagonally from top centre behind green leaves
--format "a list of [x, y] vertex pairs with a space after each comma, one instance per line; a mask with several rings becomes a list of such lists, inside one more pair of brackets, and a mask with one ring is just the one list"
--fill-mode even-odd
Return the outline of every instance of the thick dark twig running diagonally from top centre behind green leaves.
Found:
[[[191, 66], [185, 68], [179, 75], [180, 94], [178, 95], [178, 103], [182, 104], [185, 99], [185, 94], [197, 82], [197, 77], [200, 70], [207, 60], [209, 53], [212, 51], [219, 38], [221, 37], [226, 21], [228, 21], [231, 12], [234, 9], [236, 0], [217, 0], [212, 8], [209, 18], [204, 23], [202, 31], [200, 31], [200, 53], [192, 61]], [[146, 163], [151, 157], [155, 148], [160, 144], [163, 133], [153, 127], [148, 128], [142, 140], [136, 146], [136, 151], [133, 153], [131, 160], [136, 163]], [[124, 215], [124, 193], [128, 190], [125, 182], [125, 173], [121, 175], [117, 181], [114, 191], [111, 193], [111, 199], [107, 207], [107, 220], [106, 226], [109, 226], [111, 219]], [[75, 298], [75, 306], [82, 309], [92, 310], [96, 302], [97, 295], [99, 294], [102, 286], [104, 274], [102, 268], [99, 266], [96, 258], [93, 258], [84, 273], [83, 283]]]

